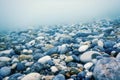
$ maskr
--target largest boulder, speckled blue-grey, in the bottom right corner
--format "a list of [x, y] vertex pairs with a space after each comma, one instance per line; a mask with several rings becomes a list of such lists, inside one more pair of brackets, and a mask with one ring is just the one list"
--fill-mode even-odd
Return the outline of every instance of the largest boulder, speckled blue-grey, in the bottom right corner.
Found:
[[105, 57], [98, 60], [93, 74], [97, 80], [119, 80], [120, 61], [115, 58]]

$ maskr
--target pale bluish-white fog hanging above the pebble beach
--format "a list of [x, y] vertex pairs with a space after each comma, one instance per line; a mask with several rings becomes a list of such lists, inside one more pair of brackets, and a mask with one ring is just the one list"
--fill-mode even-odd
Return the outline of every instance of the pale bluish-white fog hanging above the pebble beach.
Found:
[[120, 16], [120, 0], [0, 0], [0, 31]]

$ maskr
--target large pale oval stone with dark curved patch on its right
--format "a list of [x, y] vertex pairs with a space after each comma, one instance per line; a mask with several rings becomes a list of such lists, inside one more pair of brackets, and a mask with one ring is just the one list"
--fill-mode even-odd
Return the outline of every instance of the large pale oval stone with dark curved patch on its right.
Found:
[[92, 59], [95, 59], [99, 55], [101, 54], [97, 51], [87, 51], [80, 55], [80, 61], [86, 63], [92, 61]]

